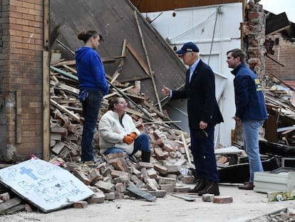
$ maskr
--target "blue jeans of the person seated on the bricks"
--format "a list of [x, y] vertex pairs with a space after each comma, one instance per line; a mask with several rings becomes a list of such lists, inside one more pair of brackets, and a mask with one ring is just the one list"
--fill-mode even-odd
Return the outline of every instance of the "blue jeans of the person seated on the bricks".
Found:
[[[141, 133], [137, 138], [135, 138], [134, 148], [131, 155], [133, 155], [137, 151], [150, 152], [150, 140], [148, 138], [148, 134]], [[125, 151], [122, 148], [111, 147], [111, 148], [108, 148], [103, 154], [107, 155], [109, 153], [118, 153], [118, 152], [125, 152]]]

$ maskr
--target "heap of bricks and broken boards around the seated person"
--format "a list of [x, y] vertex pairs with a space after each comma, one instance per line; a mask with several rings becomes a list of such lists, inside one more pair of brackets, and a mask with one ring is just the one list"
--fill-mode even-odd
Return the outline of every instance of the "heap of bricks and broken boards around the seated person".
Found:
[[[88, 198], [87, 203], [139, 197], [155, 201], [167, 192], [187, 192], [190, 188], [187, 184], [195, 182], [190, 137], [185, 131], [172, 129], [170, 124], [177, 126], [177, 121], [171, 121], [165, 111], [157, 111], [145, 95], [140, 95], [140, 89], [128, 83], [110, 80], [110, 92], [103, 99], [98, 120], [107, 111], [108, 99], [123, 96], [128, 101], [127, 112], [135, 125], [150, 138], [150, 163], [140, 161], [140, 151], [134, 154], [137, 163], [130, 161], [125, 153], [100, 155], [97, 127], [93, 147], [98, 162], [81, 163], [83, 117], [81, 103], [77, 99], [78, 79], [74, 66], [74, 61], [59, 61], [51, 65], [50, 162], [70, 171], [89, 186], [95, 195]], [[5, 204], [0, 205], [0, 213], [13, 213], [25, 208], [14, 193], [5, 189], [3, 193], [6, 193], [3, 194], [6, 198]], [[9, 194], [12, 198], [8, 197]], [[81, 208], [86, 203], [75, 204], [74, 207]]]

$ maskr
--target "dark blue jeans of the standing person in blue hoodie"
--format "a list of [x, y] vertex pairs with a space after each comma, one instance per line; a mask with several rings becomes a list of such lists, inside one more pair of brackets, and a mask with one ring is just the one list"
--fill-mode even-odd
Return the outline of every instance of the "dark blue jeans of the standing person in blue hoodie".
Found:
[[81, 141], [81, 161], [93, 161], [92, 140], [102, 99], [101, 91], [88, 91], [88, 97], [82, 103], [85, 121]]

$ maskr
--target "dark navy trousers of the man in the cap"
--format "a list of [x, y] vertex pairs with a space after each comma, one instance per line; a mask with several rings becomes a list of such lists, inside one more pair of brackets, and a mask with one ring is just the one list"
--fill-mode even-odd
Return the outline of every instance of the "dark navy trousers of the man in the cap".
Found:
[[214, 127], [205, 128], [207, 138], [197, 138], [197, 131], [190, 130], [192, 156], [197, 175], [207, 181], [219, 182], [216, 156], [214, 153]]

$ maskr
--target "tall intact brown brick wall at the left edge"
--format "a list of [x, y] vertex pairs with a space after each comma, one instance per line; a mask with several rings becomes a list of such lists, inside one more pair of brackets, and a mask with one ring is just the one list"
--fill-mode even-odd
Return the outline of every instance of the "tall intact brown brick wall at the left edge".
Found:
[[0, 161], [42, 157], [43, 1], [0, 7]]

